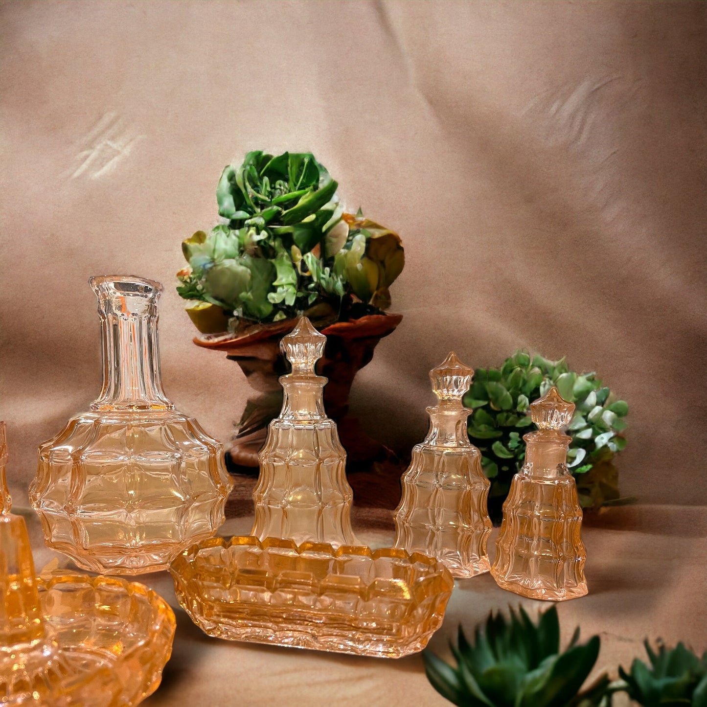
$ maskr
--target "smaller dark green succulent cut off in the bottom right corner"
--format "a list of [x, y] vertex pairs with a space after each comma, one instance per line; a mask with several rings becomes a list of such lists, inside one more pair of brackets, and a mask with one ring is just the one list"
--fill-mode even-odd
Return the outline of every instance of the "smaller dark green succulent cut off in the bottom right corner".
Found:
[[707, 707], [707, 653], [698, 658], [682, 643], [670, 650], [658, 643], [658, 653], [644, 645], [650, 666], [636, 658], [631, 672], [619, 667], [618, 689], [645, 707]]

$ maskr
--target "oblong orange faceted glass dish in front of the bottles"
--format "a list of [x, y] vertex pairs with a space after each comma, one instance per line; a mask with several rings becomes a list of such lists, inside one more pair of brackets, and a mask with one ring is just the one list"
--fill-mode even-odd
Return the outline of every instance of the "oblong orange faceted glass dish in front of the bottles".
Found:
[[171, 572], [209, 636], [382, 658], [422, 650], [454, 586], [422, 554], [252, 536], [201, 542]]

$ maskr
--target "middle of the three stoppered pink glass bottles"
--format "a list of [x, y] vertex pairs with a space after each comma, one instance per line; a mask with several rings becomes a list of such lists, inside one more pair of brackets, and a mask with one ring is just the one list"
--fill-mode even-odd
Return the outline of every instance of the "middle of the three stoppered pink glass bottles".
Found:
[[481, 469], [481, 452], [469, 443], [471, 410], [462, 405], [473, 375], [453, 351], [430, 371], [439, 400], [427, 409], [430, 431], [412, 450], [395, 511], [395, 547], [436, 557], [455, 577], [489, 571], [490, 482]]

